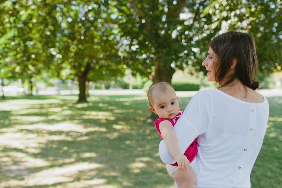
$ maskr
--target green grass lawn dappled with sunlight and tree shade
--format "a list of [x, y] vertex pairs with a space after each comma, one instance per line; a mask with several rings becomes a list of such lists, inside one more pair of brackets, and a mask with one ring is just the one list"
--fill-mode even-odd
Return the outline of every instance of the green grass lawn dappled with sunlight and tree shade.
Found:
[[[0, 187], [173, 188], [145, 94], [0, 99]], [[191, 96], [179, 97], [182, 110]], [[254, 188], [282, 185], [282, 96], [267, 97], [268, 129]]]

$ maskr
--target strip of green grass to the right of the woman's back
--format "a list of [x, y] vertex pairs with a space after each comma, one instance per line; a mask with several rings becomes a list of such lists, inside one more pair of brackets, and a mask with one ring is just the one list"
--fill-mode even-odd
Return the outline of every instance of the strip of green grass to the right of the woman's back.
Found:
[[275, 187], [282, 184], [282, 97], [267, 97], [269, 120], [259, 156], [251, 173], [252, 187]]

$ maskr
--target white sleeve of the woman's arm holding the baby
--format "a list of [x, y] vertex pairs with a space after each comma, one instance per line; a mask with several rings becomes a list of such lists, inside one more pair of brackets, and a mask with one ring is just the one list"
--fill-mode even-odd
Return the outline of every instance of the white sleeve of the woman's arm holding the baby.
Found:
[[[208, 96], [206, 96], [208, 94]], [[181, 153], [195, 140], [195, 138], [206, 132], [212, 112], [212, 99], [210, 92], [198, 92], [188, 103], [183, 114], [173, 127]], [[175, 163], [170, 155], [165, 142], [159, 143], [159, 155], [165, 164]]]

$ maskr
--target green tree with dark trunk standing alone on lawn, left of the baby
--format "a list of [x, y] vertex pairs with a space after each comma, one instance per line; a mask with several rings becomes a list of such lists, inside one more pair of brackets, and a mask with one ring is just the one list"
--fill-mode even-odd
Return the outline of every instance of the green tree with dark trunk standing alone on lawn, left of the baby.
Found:
[[109, 19], [115, 10], [102, 2], [84, 1], [58, 4], [56, 10], [61, 28], [54, 48], [61, 63], [75, 72], [80, 89], [78, 102], [85, 102], [88, 73], [105, 75], [118, 69], [118, 25]]

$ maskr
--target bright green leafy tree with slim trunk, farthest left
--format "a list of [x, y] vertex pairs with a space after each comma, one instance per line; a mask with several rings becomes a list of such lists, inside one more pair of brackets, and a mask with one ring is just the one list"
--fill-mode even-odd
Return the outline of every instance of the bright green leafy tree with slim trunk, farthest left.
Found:
[[[38, 12], [33, 11], [33, 4], [6, 1], [0, 5], [3, 13], [1, 33], [8, 37], [1, 37], [3, 48], [1, 54], [10, 63], [9, 73], [13, 77], [29, 80], [29, 94], [32, 95], [32, 81], [34, 76], [41, 74], [48, 57], [41, 44], [41, 26], [37, 21]], [[44, 64], [45, 62], [45, 64]]]

